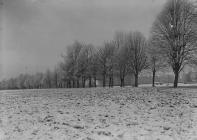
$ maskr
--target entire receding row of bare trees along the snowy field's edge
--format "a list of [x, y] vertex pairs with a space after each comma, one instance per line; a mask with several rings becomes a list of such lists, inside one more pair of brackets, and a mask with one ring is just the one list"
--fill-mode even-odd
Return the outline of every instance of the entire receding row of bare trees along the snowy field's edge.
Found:
[[143, 70], [152, 71], [152, 85], [156, 72], [170, 67], [174, 73], [174, 87], [185, 65], [197, 63], [197, 11], [188, 0], [168, 0], [152, 25], [146, 39], [139, 31], [116, 32], [114, 38], [101, 47], [75, 41], [67, 46], [63, 61], [54, 71], [35, 75], [20, 75], [1, 82], [2, 89], [13, 88], [79, 88], [113, 87], [114, 77], [125, 86], [125, 77], [133, 75], [134, 86]]

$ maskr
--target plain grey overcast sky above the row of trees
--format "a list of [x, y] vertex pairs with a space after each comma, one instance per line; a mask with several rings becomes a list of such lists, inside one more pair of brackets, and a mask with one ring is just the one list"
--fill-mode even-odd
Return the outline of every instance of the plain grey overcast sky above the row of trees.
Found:
[[0, 79], [44, 72], [74, 40], [100, 46], [115, 31], [146, 37], [165, 0], [5, 0]]

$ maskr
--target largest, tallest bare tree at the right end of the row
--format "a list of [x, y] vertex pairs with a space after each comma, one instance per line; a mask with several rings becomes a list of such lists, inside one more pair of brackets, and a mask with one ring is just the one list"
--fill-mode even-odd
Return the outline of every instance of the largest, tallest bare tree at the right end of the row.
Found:
[[153, 39], [174, 72], [174, 87], [179, 73], [190, 63], [197, 50], [197, 16], [189, 0], [168, 0], [152, 29]]

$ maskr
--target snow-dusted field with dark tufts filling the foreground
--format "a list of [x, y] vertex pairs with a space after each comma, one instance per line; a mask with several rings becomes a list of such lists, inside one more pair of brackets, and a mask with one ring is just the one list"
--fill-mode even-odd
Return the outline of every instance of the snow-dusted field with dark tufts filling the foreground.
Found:
[[0, 140], [197, 140], [197, 88], [0, 91]]

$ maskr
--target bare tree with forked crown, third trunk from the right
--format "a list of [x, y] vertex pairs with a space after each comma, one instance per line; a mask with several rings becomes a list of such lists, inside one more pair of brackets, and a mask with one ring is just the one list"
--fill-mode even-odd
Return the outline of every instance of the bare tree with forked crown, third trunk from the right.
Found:
[[135, 76], [135, 87], [138, 87], [138, 77], [142, 70], [148, 67], [148, 60], [145, 52], [146, 39], [140, 32], [129, 33], [127, 38], [129, 51], [129, 65]]

